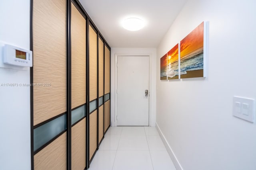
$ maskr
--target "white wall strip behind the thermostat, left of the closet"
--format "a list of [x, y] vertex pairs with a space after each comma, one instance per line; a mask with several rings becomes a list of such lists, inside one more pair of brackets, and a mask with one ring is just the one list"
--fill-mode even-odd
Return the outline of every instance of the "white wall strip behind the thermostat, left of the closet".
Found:
[[[4, 43], [30, 49], [30, 0], [1, 0], [0, 22], [0, 55]], [[5, 83], [30, 83], [29, 69], [0, 68], [0, 169], [29, 170], [30, 87]]]

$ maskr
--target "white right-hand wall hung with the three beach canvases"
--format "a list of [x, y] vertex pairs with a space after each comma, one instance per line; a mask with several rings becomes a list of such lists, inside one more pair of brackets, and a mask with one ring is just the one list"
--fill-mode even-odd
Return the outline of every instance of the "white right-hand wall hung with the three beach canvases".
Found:
[[[156, 123], [184, 170], [256, 168], [256, 123], [232, 116], [233, 96], [256, 99], [255, 7], [255, 0], [188, 0], [157, 48]], [[208, 77], [160, 81], [160, 57], [202, 21], [209, 21]]]

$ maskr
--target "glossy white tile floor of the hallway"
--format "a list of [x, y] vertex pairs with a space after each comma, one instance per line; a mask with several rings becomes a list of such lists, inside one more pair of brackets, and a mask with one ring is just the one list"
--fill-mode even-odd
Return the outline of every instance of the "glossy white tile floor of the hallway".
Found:
[[155, 127], [110, 127], [89, 170], [176, 170]]

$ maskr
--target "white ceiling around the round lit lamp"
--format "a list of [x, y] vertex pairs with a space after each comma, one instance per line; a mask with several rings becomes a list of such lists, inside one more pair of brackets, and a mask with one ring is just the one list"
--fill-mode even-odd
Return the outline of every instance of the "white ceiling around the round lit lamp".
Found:
[[[187, 0], [79, 0], [110, 47], [157, 47]], [[125, 18], [139, 17], [146, 26], [128, 31]]]

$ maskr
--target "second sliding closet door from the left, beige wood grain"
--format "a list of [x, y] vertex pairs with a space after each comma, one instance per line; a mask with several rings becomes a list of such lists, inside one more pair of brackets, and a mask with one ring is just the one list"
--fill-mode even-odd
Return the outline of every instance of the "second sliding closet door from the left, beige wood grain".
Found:
[[71, 166], [86, 166], [86, 20], [71, 7]]

